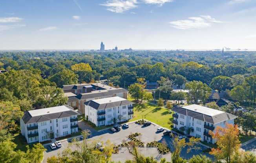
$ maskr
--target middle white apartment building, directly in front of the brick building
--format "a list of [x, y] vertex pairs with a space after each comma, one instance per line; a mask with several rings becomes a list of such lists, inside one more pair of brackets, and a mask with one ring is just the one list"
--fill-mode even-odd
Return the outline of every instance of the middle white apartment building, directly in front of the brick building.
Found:
[[118, 96], [84, 103], [85, 117], [96, 126], [112, 125], [133, 118], [133, 102]]

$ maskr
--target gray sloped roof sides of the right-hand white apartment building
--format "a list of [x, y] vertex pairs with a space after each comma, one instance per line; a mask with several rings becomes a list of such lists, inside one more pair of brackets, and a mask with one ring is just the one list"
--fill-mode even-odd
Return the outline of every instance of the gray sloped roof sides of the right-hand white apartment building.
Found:
[[185, 108], [182, 108], [182, 107], [174, 109], [173, 111], [177, 112], [179, 114], [183, 114], [183, 115], [186, 115], [186, 116], [193, 117], [197, 120], [206, 121], [206, 122], [213, 123], [213, 124], [237, 118], [237, 116], [234, 116], [233, 114], [230, 114], [230, 113], [227, 113], [227, 112], [221, 112], [220, 114], [217, 114], [217, 115], [214, 115], [214, 116], [209, 116], [209, 115], [202, 114], [202, 113], [192, 111], [192, 110], [188, 110], [188, 109], [185, 109]]

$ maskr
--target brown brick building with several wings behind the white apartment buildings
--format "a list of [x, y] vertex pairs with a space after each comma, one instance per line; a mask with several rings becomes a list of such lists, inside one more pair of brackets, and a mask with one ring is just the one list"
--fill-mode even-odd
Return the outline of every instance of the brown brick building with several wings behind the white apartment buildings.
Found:
[[[114, 88], [103, 83], [63, 85], [65, 94], [73, 93], [77, 96], [70, 96], [70, 106], [75, 104], [78, 111], [84, 114], [84, 102], [101, 98], [119, 96], [127, 99], [128, 91], [123, 88]], [[75, 102], [76, 101], [76, 102]]]

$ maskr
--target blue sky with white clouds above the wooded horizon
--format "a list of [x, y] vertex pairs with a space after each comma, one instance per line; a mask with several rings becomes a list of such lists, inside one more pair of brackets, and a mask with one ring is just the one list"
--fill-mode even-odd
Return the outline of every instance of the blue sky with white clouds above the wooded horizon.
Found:
[[0, 0], [0, 49], [256, 49], [256, 0]]

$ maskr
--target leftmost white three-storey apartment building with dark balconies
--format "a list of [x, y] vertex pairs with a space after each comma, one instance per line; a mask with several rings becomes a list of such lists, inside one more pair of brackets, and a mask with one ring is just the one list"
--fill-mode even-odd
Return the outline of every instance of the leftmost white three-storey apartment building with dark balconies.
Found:
[[67, 105], [29, 110], [20, 118], [20, 130], [27, 143], [67, 136], [78, 132], [77, 115]]

